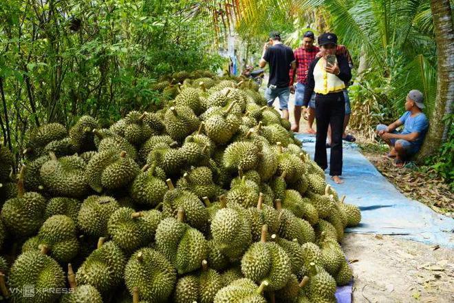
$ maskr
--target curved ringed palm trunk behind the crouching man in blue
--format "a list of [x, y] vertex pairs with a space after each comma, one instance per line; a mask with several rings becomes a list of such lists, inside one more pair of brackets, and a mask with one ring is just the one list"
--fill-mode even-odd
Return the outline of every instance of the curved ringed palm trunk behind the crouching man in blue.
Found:
[[[454, 98], [454, 28], [449, 0], [431, 0], [437, 43], [437, 98], [430, 118], [429, 132], [418, 154], [422, 161], [435, 154], [446, 138], [448, 126], [442, 118], [451, 113]], [[446, 123], [447, 124], [447, 123]]]

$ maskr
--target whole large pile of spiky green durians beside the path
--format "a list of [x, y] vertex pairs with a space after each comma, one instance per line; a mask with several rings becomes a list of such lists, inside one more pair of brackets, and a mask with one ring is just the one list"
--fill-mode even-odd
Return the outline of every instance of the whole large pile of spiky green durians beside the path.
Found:
[[3, 298], [336, 302], [359, 209], [254, 83], [199, 75], [156, 84], [174, 96], [109, 128], [32, 129], [17, 175], [1, 146]]

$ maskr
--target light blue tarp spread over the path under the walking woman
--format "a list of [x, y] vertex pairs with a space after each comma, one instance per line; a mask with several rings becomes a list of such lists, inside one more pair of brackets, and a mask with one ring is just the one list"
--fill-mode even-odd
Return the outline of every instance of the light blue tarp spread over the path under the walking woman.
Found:
[[[295, 134], [303, 142], [303, 149], [314, 159], [315, 136]], [[329, 161], [329, 149], [328, 149]], [[343, 179], [337, 185], [328, 176], [329, 185], [339, 196], [346, 195], [345, 202], [357, 205], [362, 220], [358, 227], [347, 233], [379, 233], [396, 235], [426, 244], [439, 244], [454, 248], [454, 219], [435, 213], [422, 203], [405, 197], [358, 151], [357, 145], [344, 143]], [[338, 303], [352, 302], [353, 281], [338, 287]]]

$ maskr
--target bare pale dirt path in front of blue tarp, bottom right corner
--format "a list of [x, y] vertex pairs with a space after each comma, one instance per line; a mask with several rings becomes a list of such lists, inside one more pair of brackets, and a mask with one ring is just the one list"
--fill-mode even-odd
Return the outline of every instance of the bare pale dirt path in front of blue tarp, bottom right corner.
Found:
[[354, 233], [342, 246], [354, 271], [353, 302], [454, 302], [453, 250]]

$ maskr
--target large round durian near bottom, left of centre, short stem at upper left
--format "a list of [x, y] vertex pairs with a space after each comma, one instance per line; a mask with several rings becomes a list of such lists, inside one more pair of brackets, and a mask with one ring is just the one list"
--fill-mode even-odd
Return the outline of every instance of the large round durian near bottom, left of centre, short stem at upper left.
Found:
[[177, 275], [175, 267], [162, 253], [151, 248], [136, 251], [125, 268], [125, 284], [133, 295], [135, 287], [142, 300], [166, 302], [171, 296]]

